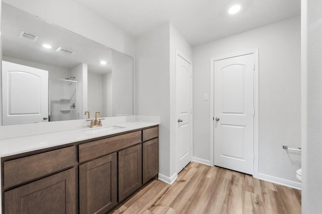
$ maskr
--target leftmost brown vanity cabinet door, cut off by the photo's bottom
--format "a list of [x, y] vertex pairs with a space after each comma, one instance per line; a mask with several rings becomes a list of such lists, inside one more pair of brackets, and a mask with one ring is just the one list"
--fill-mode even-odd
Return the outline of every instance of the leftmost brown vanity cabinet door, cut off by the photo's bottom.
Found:
[[68, 169], [5, 192], [8, 213], [75, 213], [75, 169]]

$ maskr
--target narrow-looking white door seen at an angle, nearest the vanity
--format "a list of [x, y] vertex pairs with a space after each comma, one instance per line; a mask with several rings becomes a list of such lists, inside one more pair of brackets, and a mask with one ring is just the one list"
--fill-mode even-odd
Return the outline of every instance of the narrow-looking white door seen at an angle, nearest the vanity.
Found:
[[176, 55], [177, 172], [192, 160], [192, 63]]

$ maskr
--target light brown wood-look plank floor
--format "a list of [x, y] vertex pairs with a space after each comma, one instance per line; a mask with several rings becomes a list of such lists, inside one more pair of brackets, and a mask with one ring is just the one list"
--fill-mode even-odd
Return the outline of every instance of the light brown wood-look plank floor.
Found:
[[301, 191], [191, 162], [169, 185], [153, 180], [111, 213], [301, 213]]

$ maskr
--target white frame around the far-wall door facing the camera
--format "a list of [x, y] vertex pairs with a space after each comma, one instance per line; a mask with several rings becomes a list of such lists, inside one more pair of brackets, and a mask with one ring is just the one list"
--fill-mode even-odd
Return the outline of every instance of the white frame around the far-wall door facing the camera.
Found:
[[258, 178], [259, 150], [259, 49], [239, 52], [224, 57], [210, 59], [210, 165], [214, 165], [214, 62], [232, 57], [254, 54], [254, 169], [253, 176]]

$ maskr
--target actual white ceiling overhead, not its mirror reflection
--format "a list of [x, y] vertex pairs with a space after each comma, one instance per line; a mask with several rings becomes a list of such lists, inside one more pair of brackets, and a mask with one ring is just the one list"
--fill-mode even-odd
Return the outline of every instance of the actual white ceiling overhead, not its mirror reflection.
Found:
[[[171, 22], [192, 45], [300, 15], [300, 0], [74, 0], [133, 35]], [[241, 11], [228, 15], [230, 5]]]

